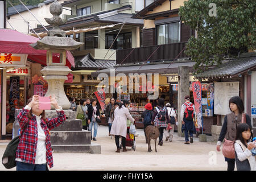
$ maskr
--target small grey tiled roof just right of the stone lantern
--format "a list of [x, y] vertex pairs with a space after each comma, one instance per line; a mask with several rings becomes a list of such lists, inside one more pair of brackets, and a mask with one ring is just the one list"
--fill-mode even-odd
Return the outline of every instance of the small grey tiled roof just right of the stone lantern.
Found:
[[113, 60], [95, 60], [90, 54], [75, 57], [76, 68], [112, 68], [115, 66]]

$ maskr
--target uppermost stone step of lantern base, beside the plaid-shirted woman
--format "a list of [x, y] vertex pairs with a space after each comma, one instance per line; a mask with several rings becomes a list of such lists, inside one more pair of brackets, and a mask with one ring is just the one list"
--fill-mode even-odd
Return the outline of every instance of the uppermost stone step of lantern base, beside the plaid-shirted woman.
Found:
[[58, 127], [51, 131], [82, 131], [81, 119], [67, 119]]

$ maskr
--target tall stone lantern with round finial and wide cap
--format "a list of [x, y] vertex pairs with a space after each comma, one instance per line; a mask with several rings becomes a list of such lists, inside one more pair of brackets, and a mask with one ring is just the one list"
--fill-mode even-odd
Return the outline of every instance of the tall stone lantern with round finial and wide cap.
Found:
[[[45, 76], [44, 79], [48, 82], [46, 96], [55, 94], [58, 104], [63, 109], [69, 109], [71, 104], [64, 92], [64, 81], [68, 80], [67, 75], [71, 72], [71, 69], [65, 66], [66, 52], [77, 49], [84, 43], [66, 38], [65, 31], [60, 30], [59, 26], [65, 22], [59, 17], [63, 8], [57, 0], [52, 3], [49, 10], [53, 17], [45, 19], [48, 24], [53, 26], [52, 30], [49, 30], [48, 36], [30, 45], [35, 49], [47, 50], [47, 67], [44, 67], [41, 71]], [[52, 61], [52, 56], [56, 54], [59, 54], [59, 63], [53, 63]], [[51, 109], [54, 109], [53, 106], [51, 106]]]

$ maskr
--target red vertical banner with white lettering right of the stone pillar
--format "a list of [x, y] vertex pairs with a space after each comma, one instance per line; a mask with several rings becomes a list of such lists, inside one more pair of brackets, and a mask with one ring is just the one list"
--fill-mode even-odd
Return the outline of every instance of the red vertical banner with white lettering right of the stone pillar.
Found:
[[192, 82], [192, 89], [193, 89], [194, 103], [195, 103], [195, 109], [196, 109], [197, 127], [198, 128], [202, 127], [202, 134], [203, 134], [201, 82], [200, 81]]

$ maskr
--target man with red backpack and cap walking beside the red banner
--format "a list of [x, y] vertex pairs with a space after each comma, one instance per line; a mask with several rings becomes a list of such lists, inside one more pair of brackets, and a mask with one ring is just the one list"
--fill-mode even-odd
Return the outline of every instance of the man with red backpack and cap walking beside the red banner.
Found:
[[[193, 128], [194, 128], [194, 121], [196, 110], [195, 105], [190, 102], [190, 97], [185, 96], [185, 102], [183, 105], [181, 105], [181, 111], [180, 111], [180, 118], [182, 121], [182, 125], [185, 131], [185, 143], [184, 144], [190, 144], [193, 143]], [[188, 133], [190, 136], [190, 143], [188, 139]]]

